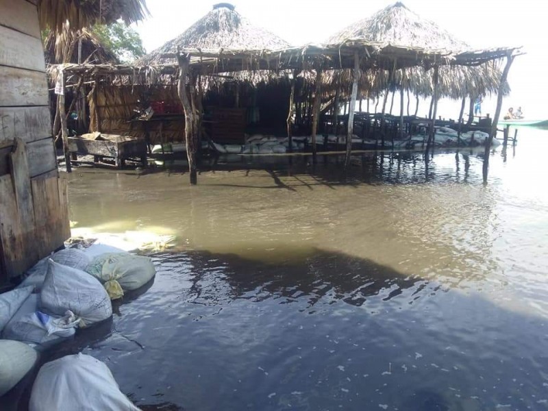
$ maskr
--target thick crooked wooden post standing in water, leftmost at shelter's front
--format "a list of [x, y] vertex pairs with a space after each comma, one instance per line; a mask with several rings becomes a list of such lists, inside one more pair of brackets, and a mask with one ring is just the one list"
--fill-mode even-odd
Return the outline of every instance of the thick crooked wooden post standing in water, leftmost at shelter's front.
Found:
[[[190, 172], [190, 184], [198, 183], [198, 173], [196, 170], [196, 145], [194, 139], [195, 114], [192, 112], [190, 97], [186, 91], [186, 76], [188, 75], [188, 64], [190, 58], [184, 55], [177, 55], [179, 63], [179, 82], [177, 92], [184, 109], [184, 136], [186, 138], [186, 157], [188, 158], [188, 170]], [[192, 82], [190, 82], [192, 87]]]

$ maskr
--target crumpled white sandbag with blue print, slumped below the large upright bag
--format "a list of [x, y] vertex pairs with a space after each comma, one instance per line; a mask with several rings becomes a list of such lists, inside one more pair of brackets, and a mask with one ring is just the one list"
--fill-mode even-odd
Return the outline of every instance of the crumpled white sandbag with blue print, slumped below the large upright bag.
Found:
[[71, 311], [62, 317], [38, 311], [38, 294], [32, 294], [5, 326], [2, 338], [38, 344], [37, 349], [46, 349], [73, 336], [78, 322]]

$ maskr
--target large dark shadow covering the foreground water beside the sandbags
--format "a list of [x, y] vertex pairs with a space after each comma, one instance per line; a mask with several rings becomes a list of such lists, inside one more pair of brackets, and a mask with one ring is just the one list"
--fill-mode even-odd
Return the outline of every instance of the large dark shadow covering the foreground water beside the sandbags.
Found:
[[[153, 284], [44, 360], [94, 356], [147, 411], [521, 409], [544, 398], [543, 319], [477, 295], [323, 249], [277, 264], [152, 257]], [[25, 410], [25, 384], [6, 410]]]

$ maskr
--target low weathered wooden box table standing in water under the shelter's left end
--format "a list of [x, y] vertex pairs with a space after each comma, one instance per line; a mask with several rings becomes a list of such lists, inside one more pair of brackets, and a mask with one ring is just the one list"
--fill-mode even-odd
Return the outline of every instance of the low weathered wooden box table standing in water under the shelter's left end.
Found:
[[130, 136], [101, 134], [101, 139], [92, 140], [81, 137], [69, 137], [69, 151], [82, 155], [93, 155], [95, 161], [113, 158], [116, 166], [124, 165], [125, 160], [138, 160], [147, 165], [147, 143]]

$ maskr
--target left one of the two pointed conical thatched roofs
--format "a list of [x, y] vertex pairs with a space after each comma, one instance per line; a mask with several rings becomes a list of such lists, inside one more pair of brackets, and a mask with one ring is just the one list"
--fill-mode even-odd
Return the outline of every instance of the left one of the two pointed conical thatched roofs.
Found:
[[175, 53], [177, 49], [269, 49], [290, 47], [289, 43], [266, 29], [251, 24], [229, 3], [213, 6], [208, 14], [188, 27], [185, 32], [169, 40], [138, 60], [137, 64], [166, 64], [175, 59], [162, 58], [164, 53]]

